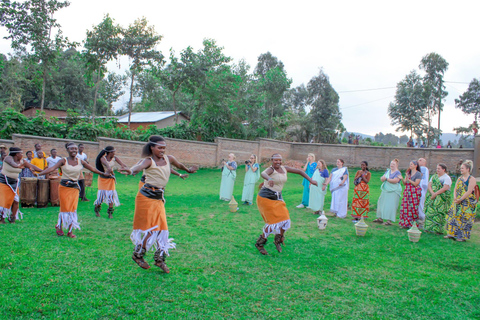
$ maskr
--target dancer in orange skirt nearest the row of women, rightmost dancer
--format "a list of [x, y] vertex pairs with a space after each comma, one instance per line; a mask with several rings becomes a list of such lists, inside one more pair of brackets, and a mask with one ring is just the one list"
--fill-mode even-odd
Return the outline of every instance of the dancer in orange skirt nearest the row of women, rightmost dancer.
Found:
[[285, 231], [290, 229], [290, 214], [282, 198], [282, 189], [287, 182], [287, 172], [296, 173], [307, 179], [312, 185], [317, 182], [312, 180], [305, 172], [299, 169], [282, 166], [282, 156], [278, 153], [272, 155], [272, 166], [261, 174], [264, 182], [257, 195], [258, 211], [262, 215], [265, 226], [258, 237], [255, 247], [261, 254], [266, 255], [265, 244], [270, 234], [275, 234], [273, 243], [278, 252], [282, 252], [282, 244], [285, 241]]

